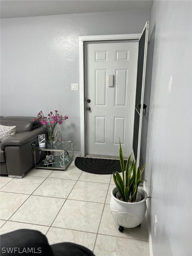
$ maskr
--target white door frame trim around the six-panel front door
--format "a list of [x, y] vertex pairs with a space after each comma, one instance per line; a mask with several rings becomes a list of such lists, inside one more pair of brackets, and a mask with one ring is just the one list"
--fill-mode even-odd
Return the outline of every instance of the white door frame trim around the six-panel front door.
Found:
[[139, 41], [141, 34], [123, 35], [98, 35], [79, 37], [79, 91], [80, 91], [80, 131], [81, 131], [81, 156], [86, 156], [86, 113], [85, 113], [85, 42], [96, 41]]

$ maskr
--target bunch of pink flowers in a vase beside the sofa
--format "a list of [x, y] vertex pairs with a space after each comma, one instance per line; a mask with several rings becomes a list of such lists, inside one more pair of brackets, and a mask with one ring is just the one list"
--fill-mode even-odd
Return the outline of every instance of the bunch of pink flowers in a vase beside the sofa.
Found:
[[33, 122], [35, 120], [38, 120], [41, 124], [45, 125], [47, 127], [49, 139], [50, 137], [53, 138], [53, 131], [55, 129], [55, 126], [58, 124], [62, 124], [63, 120], [68, 119], [68, 116], [62, 116], [58, 114], [58, 111], [55, 110], [55, 115], [52, 111], [46, 116], [44, 116], [43, 111], [41, 110], [36, 118], [33, 118]]

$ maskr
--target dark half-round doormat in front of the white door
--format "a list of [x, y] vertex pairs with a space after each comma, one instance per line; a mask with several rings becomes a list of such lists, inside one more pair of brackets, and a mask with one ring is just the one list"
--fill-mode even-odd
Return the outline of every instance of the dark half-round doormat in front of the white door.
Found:
[[75, 166], [84, 172], [93, 174], [121, 172], [120, 162], [115, 159], [76, 157]]

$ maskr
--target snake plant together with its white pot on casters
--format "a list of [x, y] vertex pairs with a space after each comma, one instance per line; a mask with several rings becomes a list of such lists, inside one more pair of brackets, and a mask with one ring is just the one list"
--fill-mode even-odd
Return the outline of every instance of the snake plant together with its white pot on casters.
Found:
[[137, 161], [132, 160], [130, 155], [125, 166], [121, 141], [119, 160], [122, 177], [118, 172], [113, 174], [116, 187], [111, 190], [110, 208], [114, 220], [120, 226], [119, 231], [123, 232], [124, 228], [134, 228], [141, 225], [147, 209], [147, 193], [139, 187], [145, 164], [140, 169], [137, 167]]

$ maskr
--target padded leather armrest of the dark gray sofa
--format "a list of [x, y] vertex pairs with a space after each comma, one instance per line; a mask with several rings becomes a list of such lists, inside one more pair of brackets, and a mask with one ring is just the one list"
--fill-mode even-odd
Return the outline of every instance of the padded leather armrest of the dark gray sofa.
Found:
[[44, 134], [46, 132], [47, 128], [45, 126], [41, 126], [30, 132], [16, 133], [1, 142], [1, 149], [4, 149], [5, 146], [21, 146], [35, 139], [38, 135]]

